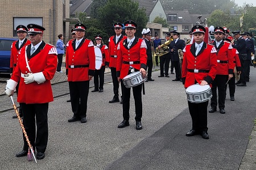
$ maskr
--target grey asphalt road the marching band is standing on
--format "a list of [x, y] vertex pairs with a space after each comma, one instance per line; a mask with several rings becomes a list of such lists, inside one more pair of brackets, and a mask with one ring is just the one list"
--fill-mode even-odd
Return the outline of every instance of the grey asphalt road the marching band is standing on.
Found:
[[[49, 139], [46, 158], [38, 163], [16, 158], [22, 150], [22, 131], [9, 97], [0, 96], [0, 169], [239, 169], [253, 129], [256, 71], [251, 67], [247, 87], [237, 87], [235, 101], [226, 99], [226, 114], [208, 113], [209, 140], [185, 137], [191, 129], [185, 91], [181, 82], [158, 78], [145, 83], [142, 130], [135, 130], [133, 96], [130, 126], [118, 129], [122, 105], [109, 104], [112, 83], [103, 93], [89, 92], [85, 124], [68, 123], [72, 117], [68, 83], [52, 86], [55, 100], [49, 104]], [[106, 78], [110, 78], [110, 74]], [[92, 83], [92, 82], [91, 82]], [[92, 88], [90, 89], [92, 90]], [[31, 96], [33, 97], [33, 96]]]

